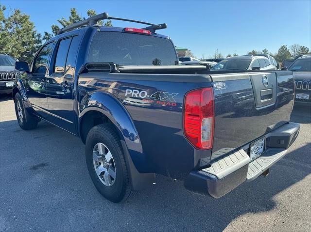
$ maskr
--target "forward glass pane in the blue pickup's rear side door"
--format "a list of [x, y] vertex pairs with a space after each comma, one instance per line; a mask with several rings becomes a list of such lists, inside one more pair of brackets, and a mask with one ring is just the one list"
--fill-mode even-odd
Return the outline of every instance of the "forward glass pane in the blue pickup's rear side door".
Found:
[[57, 48], [57, 54], [55, 64], [53, 67], [53, 73], [64, 73], [66, 66], [66, 59], [71, 42], [71, 37], [60, 41]]

